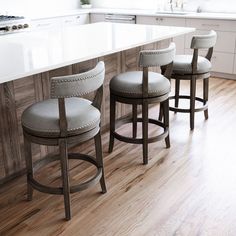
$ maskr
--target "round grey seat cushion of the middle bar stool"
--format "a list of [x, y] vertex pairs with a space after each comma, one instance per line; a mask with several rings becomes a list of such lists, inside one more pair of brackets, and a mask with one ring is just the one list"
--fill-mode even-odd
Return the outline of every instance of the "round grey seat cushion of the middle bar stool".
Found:
[[[119, 74], [110, 81], [110, 91], [121, 97], [142, 98], [142, 71]], [[158, 97], [170, 92], [169, 80], [155, 72], [148, 72], [148, 96]]]

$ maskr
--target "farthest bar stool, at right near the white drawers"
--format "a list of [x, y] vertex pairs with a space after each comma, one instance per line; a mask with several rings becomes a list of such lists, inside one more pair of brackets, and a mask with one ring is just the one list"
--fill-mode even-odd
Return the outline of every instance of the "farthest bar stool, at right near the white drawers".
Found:
[[[193, 55], [176, 55], [173, 62], [173, 73], [171, 79], [175, 79], [175, 95], [170, 99], [175, 100], [174, 107], [170, 106], [170, 111], [190, 113], [190, 128], [194, 129], [195, 112], [204, 111], [205, 119], [208, 119], [208, 90], [211, 70], [211, 57], [213, 47], [216, 43], [216, 32], [210, 31], [207, 35], [193, 36], [191, 49]], [[199, 49], [208, 49], [205, 57], [198, 56]], [[203, 98], [196, 97], [196, 80], [203, 80]], [[180, 80], [190, 81], [190, 96], [179, 95]], [[179, 99], [189, 99], [190, 108], [179, 108]], [[203, 103], [200, 108], [195, 108], [195, 101]]]

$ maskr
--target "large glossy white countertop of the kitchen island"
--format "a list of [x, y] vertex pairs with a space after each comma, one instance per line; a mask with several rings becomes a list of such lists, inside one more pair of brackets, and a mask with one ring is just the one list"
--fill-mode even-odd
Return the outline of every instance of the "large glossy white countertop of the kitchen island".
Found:
[[0, 37], [0, 83], [194, 30], [103, 22], [4, 35]]

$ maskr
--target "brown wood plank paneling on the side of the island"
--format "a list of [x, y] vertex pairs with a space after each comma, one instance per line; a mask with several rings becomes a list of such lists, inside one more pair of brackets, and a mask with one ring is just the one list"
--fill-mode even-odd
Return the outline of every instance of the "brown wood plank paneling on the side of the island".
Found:
[[[145, 47], [156, 47], [156, 44]], [[22, 112], [31, 104], [50, 98], [50, 78], [71, 75], [92, 69], [98, 61], [105, 62], [104, 98], [102, 105], [102, 130], [109, 125], [109, 82], [121, 72], [138, 69], [140, 47], [101, 58], [92, 59], [0, 85], [0, 183], [14, 177], [25, 168], [23, 152], [23, 134], [21, 128]], [[94, 94], [85, 98], [92, 99]], [[117, 106], [117, 117], [131, 112], [131, 106]], [[57, 147], [45, 147], [33, 144], [34, 160], [44, 157]]]

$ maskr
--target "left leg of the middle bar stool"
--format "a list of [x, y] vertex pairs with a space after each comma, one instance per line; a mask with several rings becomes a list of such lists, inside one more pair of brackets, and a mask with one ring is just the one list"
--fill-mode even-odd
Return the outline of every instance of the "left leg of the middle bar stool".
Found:
[[116, 119], [116, 101], [115, 97], [111, 94], [110, 95], [110, 141], [109, 141], [109, 150], [108, 152], [111, 153], [114, 146], [114, 136], [113, 132], [115, 132], [115, 119]]

